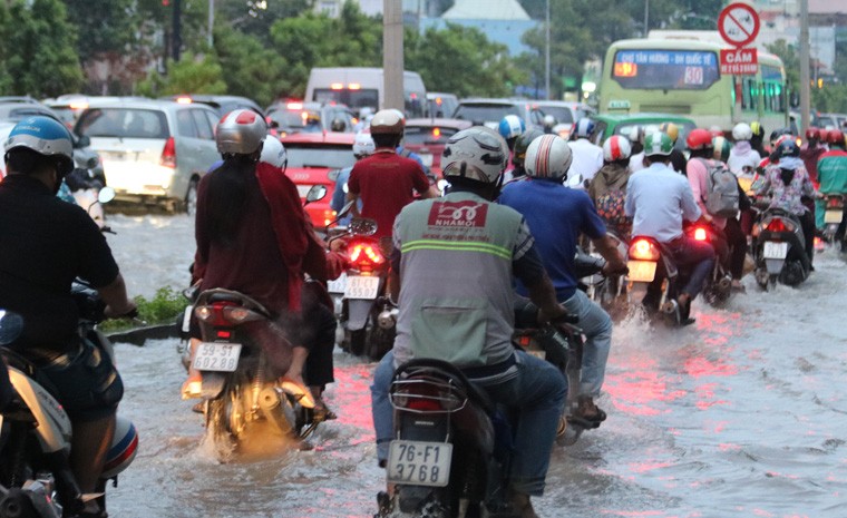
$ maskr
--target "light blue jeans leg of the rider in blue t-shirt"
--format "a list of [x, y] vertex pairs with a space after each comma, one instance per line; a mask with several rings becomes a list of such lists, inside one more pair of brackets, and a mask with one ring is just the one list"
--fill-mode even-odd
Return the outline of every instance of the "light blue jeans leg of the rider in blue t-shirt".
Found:
[[568, 313], [580, 319], [577, 325], [585, 333], [583, 346], [582, 375], [578, 395], [600, 395], [603, 378], [606, 374], [606, 360], [612, 348], [612, 319], [600, 305], [594, 303], [582, 290], [564, 301]]

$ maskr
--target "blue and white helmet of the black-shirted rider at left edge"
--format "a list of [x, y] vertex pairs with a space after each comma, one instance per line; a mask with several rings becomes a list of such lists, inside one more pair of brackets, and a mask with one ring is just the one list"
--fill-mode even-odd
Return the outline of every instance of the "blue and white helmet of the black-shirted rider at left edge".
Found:
[[58, 158], [61, 176], [74, 170], [74, 141], [70, 131], [64, 124], [50, 117], [36, 115], [18, 123], [3, 145], [7, 154], [17, 148], [27, 148], [39, 155]]

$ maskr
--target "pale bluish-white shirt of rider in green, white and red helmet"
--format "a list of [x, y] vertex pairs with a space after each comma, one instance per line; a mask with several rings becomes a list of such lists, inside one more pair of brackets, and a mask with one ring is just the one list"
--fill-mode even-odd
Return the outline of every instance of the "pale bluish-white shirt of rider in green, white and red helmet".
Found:
[[669, 243], [682, 235], [682, 219], [700, 217], [688, 179], [656, 163], [633, 173], [626, 184], [624, 212], [633, 218], [632, 235]]

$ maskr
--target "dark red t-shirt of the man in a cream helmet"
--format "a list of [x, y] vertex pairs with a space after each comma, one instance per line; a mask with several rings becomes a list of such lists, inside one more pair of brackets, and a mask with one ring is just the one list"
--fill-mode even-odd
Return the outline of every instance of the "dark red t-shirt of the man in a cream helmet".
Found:
[[378, 149], [356, 163], [347, 187], [361, 197], [362, 217], [376, 219], [374, 236], [387, 237], [397, 215], [415, 199], [413, 192], [429, 190], [429, 180], [417, 162], [393, 149]]

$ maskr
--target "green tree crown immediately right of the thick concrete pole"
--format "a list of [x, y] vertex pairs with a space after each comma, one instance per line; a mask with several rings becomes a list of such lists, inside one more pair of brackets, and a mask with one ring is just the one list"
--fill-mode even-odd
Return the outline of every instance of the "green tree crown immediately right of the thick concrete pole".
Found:
[[510, 94], [508, 84], [526, 79], [506, 47], [488, 41], [476, 28], [448, 23], [442, 30], [429, 28], [422, 36], [407, 30], [405, 49], [406, 69], [417, 70], [434, 91], [499, 97]]

